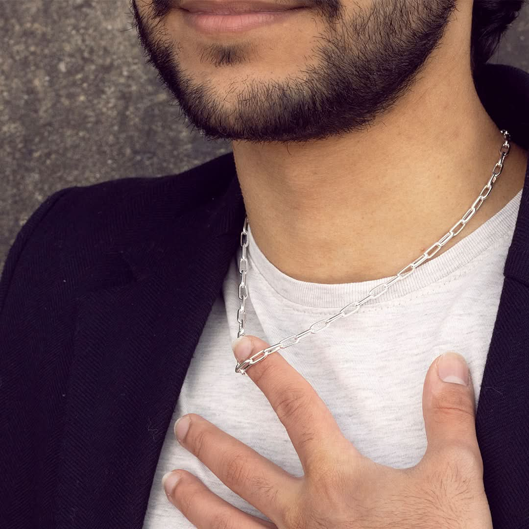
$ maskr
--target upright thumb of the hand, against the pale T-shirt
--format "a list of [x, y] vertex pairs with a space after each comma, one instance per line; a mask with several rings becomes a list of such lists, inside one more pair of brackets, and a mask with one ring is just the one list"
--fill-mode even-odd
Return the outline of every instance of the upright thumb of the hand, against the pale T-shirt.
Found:
[[432, 362], [423, 387], [423, 417], [427, 452], [455, 448], [481, 462], [474, 389], [461, 355], [449, 352]]

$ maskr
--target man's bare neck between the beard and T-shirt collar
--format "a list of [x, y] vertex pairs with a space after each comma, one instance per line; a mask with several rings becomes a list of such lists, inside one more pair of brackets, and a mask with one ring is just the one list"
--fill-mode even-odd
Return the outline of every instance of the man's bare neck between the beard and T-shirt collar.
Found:
[[[288, 147], [238, 141], [233, 153], [263, 254], [290, 277], [335, 284], [390, 277], [419, 257], [478, 197], [503, 142], [470, 73], [448, 69], [366, 132]], [[489, 197], [437, 256], [516, 195], [526, 166], [510, 141]]]

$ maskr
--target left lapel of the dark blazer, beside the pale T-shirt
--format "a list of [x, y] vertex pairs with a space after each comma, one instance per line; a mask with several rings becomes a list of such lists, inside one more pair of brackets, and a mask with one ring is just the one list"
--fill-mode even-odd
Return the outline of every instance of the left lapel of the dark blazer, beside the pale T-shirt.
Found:
[[117, 284], [76, 298], [57, 527], [142, 527], [163, 439], [244, 215], [235, 179], [215, 208], [193, 209], [163, 245], [148, 239], [124, 251]]

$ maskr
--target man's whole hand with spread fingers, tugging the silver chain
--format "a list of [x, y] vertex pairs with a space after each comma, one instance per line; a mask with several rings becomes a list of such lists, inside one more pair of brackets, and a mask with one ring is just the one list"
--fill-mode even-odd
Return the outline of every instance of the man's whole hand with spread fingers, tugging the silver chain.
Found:
[[[269, 347], [247, 336], [235, 348], [242, 361]], [[244, 347], [244, 342], [250, 348]], [[437, 357], [423, 387], [427, 450], [415, 467], [394, 469], [364, 457], [346, 439], [313, 387], [279, 354], [248, 369], [265, 394], [302, 463], [298, 478], [203, 417], [178, 423], [180, 443], [236, 494], [273, 521], [235, 508], [186, 470], [164, 476], [166, 494], [199, 529], [492, 529], [476, 439], [475, 398], [453, 355]], [[469, 379], [470, 380], [470, 379]], [[187, 432], [185, 427], [188, 425]], [[181, 479], [175, 484], [176, 477]]]

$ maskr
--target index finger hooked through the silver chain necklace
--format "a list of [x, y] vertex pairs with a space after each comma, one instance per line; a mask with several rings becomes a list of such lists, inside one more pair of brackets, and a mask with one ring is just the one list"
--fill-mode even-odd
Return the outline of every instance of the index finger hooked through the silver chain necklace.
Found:
[[[232, 346], [235, 358], [242, 362], [269, 344], [256, 336], [245, 335]], [[305, 474], [310, 472], [312, 463], [317, 466], [325, 458], [330, 461], [333, 455], [340, 457], [347, 451], [350, 456], [355, 451], [314, 388], [279, 352], [253, 364], [245, 374], [265, 394], [285, 426]]]

